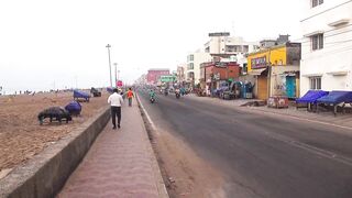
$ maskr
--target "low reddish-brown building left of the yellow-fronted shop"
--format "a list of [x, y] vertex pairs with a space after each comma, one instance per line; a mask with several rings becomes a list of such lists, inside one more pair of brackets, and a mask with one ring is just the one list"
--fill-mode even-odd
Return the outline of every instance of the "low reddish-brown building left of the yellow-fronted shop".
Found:
[[200, 88], [208, 95], [228, 81], [237, 81], [240, 76], [240, 65], [235, 62], [202, 63], [200, 68]]

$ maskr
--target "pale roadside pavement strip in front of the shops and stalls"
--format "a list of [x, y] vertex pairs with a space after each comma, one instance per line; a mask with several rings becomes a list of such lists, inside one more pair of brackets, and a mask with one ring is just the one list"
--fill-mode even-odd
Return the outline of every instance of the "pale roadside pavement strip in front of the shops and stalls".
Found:
[[235, 99], [235, 100], [222, 100], [219, 98], [210, 98], [210, 97], [196, 97], [196, 96], [187, 96], [189, 99], [205, 101], [205, 102], [212, 102], [222, 105], [226, 107], [232, 108], [240, 108], [240, 110], [245, 111], [256, 111], [262, 113], [274, 113], [279, 116], [288, 116], [294, 117], [296, 119], [302, 120], [310, 120], [316, 122], [322, 122], [328, 124], [334, 124], [343, 128], [352, 128], [352, 114], [351, 113], [338, 113], [337, 117], [333, 116], [332, 111], [328, 112], [308, 112], [307, 109], [300, 108], [296, 109], [296, 107], [290, 106], [288, 109], [275, 109], [275, 108], [267, 108], [266, 106], [263, 107], [240, 107], [249, 101], [254, 101], [253, 99]]

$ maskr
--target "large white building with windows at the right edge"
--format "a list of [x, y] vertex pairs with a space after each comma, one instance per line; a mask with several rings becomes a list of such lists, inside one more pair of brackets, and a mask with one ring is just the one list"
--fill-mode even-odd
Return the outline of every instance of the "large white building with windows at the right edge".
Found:
[[352, 1], [305, 2], [300, 95], [309, 89], [352, 90]]

